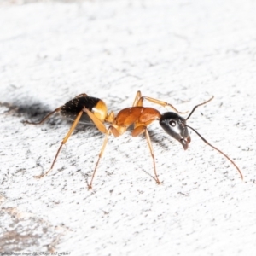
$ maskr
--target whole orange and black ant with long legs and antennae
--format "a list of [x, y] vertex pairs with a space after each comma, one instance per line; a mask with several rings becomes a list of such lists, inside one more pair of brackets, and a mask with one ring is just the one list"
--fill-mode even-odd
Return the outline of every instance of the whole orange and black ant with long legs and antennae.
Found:
[[[186, 150], [189, 148], [189, 143], [191, 142], [188, 128], [191, 129], [192, 131], [195, 131], [194, 128], [187, 125], [187, 120], [191, 117], [192, 113], [195, 112], [196, 108], [198, 108], [201, 105], [207, 104], [208, 102], [212, 101], [212, 99], [213, 99], [213, 96], [207, 102], [202, 102], [201, 104], [196, 105], [192, 109], [192, 111], [189, 113], [188, 117], [184, 119], [183, 117], [177, 114], [177, 113], [183, 113], [183, 112], [177, 111], [177, 109], [174, 108], [171, 104], [167, 102], [162, 102], [160, 100], [157, 100], [148, 96], [142, 96], [140, 91], [137, 91], [137, 95], [132, 104], [132, 107], [124, 108], [120, 110], [116, 116], [114, 116], [113, 112], [108, 113], [108, 108], [105, 102], [103, 102], [101, 99], [88, 96], [85, 93], [79, 94], [79, 96], [76, 96], [75, 98], [73, 98], [73, 100], [67, 102], [66, 104], [64, 104], [59, 108], [56, 108], [54, 111], [46, 115], [44, 119], [42, 119], [38, 123], [32, 123], [32, 122], [26, 121], [26, 124], [41, 125], [42, 123], [44, 123], [46, 119], [49, 118], [49, 116], [51, 116], [53, 113], [58, 113], [58, 112], [60, 112], [67, 119], [73, 120], [73, 125], [67, 132], [66, 137], [64, 137], [64, 139], [62, 140], [61, 146], [57, 150], [57, 153], [55, 154], [55, 159], [53, 160], [49, 170], [39, 176], [34, 176], [34, 177], [36, 178], [44, 177], [53, 169], [53, 167], [55, 166], [55, 161], [57, 160], [57, 157], [61, 152], [62, 146], [65, 143], [67, 143], [67, 140], [73, 133], [73, 130], [78, 125], [79, 121], [81, 121], [81, 122], [89, 123], [92, 125], [96, 125], [96, 128], [99, 131], [106, 134], [104, 142], [102, 144], [102, 149], [98, 156], [98, 160], [96, 161], [94, 172], [92, 173], [92, 177], [90, 179], [90, 184], [88, 185], [89, 189], [92, 188], [92, 182], [96, 174], [97, 166], [99, 165], [99, 162], [102, 158], [102, 154], [104, 153], [104, 150], [108, 143], [108, 136], [113, 134], [114, 137], [119, 137], [120, 135], [125, 133], [128, 127], [131, 125], [133, 125], [133, 131], [131, 132], [131, 136], [137, 137], [138, 135], [145, 133], [150, 154], [153, 160], [153, 165], [154, 165], [154, 180], [156, 181], [156, 183], [160, 184], [160, 180], [158, 178], [156, 168], [155, 168], [154, 151], [153, 151], [152, 143], [148, 134], [148, 125], [154, 122], [154, 120], [159, 120], [160, 126], [163, 128], [163, 130], [166, 131], [168, 135], [175, 138], [179, 143], [181, 143], [184, 150]], [[160, 105], [162, 107], [170, 107], [176, 113], [166, 112], [161, 114], [155, 108], [143, 107], [143, 100], [147, 100], [148, 102], [153, 102], [154, 104]], [[104, 125], [104, 122], [108, 122], [110, 124], [108, 128], [106, 127], [106, 125]], [[243, 179], [240, 169], [238, 168], [238, 166], [236, 166], [235, 162], [231, 160], [227, 154], [224, 154], [223, 151], [219, 150], [218, 148], [212, 146], [212, 144], [208, 143], [207, 140], [204, 137], [202, 137], [198, 131], [195, 131], [195, 133], [199, 137], [201, 137], [201, 140], [204, 143], [207, 143], [208, 146], [217, 150], [218, 153], [223, 154], [227, 160], [230, 160], [230, 163], [236, 167], [236, 170], [239, 172], [241, 179]]]

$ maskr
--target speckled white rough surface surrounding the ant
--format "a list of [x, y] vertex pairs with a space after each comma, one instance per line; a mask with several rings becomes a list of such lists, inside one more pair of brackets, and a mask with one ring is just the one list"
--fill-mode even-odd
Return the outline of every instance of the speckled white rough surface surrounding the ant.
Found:
[[[1, 252], [71, 255], [253, 255], [256, 249], [256, 3], [2, 1], [0, 4]], [[103, 136], [79, 125], [47, 171], [70, 123], [38, 120], [79, 93], [117, 113], [137, 90], [181, 111], [185, 152], [148, 127], [111, 137], [92, 190]], [[148, 104], [148, 106], [152, 106]], [[164, 108], [158, 108], [165, 112]]]

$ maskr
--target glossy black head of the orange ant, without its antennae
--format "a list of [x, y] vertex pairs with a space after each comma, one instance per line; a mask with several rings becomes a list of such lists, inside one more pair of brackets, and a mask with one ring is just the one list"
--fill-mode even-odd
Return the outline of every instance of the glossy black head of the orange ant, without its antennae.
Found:
[[166, 112], [160, 117], [160, 125], [166, 133], [183, 145], [184, 150], [189, 148], [191, 139], [186, 126], [186, 119], [183, 119], [177, 113]]

